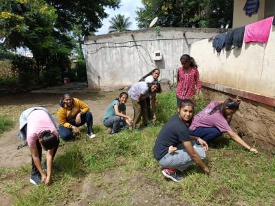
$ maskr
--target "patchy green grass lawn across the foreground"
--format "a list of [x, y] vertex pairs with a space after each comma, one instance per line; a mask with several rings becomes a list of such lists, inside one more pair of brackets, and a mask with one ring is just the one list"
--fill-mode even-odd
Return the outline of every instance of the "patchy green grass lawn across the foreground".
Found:
[[[83, 132], [76, 141], [61, 142], [50, 187], [30, 185], [26, 165], [0, 169], [1, 192], [12, 194], [14, 205], [275, 205], [275, 159], [253, 155], [227, 138], [206, 154], [209, 175], [194, 165], [180, 183], [164, 179], [153, 145], [176, 111], [175, 93], [157, 98], [159, 121], [150, 127], [110, 137], [104, 126], [94, 126], [95, 139]], [[199, 108], [203, 104], [199, 100]], [[83, 188], [89, 190], [80, 194]]]

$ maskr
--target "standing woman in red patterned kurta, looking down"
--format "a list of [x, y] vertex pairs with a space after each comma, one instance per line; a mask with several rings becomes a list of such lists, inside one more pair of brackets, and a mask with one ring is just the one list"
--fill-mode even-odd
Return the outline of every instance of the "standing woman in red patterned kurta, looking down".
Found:
[[181, 67], [177, 68], [177, 106], [181, 100], [191, 99], [194, 95], [199, 96], [201, 82], [197, 64], [191, 56], [184, 54], [180, 58]]

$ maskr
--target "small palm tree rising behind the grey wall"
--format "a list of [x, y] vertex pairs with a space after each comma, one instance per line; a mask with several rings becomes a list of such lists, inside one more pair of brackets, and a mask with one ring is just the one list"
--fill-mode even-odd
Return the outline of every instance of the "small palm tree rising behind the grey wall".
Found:
[[129, 26], [132, 24], [129, 22], [130, 17], [125, 19], [124, 15], [118, 14], [111, 18], [109, 23], [109, 33], [118, 33], [123, 31], [129, 31]]

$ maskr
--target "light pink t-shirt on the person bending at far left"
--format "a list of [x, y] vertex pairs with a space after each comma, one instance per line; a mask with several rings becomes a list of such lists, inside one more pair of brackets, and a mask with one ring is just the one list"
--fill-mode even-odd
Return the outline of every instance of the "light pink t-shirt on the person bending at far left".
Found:
[[50, 116], [43, 110], [34, 110], [27, 118], [27, 142], [28, 146], [34, 148], [36, 140], [44, 130], [50, 130], [58, 137], [58, 131], [52, 122]]

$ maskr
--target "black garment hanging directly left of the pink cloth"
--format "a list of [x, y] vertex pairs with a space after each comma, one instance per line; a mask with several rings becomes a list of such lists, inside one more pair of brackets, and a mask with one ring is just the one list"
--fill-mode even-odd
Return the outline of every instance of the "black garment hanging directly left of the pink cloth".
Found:
[[241, 47], [243, 45], [243, 34], [245, 27], [238, 27], [230, 30], [225, 36], [225, 50], [229, 51], [234, 47]]

